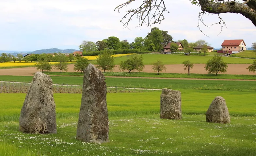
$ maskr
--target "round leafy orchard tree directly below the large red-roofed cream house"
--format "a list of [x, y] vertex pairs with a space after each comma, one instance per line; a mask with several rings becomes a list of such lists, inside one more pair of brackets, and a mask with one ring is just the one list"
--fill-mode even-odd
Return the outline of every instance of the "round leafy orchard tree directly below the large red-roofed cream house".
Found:
[[225, 73], [227, 72], [227, 63], [223, 61], [222, 57], [218, 54], [214, 55], [210, 60], [205, 64], [205, 70], [208, 70], [208, 74], [216, 73]]

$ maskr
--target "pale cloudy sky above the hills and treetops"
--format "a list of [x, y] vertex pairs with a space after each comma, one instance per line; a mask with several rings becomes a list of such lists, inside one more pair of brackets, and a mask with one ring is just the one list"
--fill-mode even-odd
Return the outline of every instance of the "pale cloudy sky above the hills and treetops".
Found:
[[[136, 7], [134, 3], [114, 11], [127, 0], [1, 0], [0, 1], [0, 50], [40, 50], [49, 48], [79, 49], [83, 40], [96, 42], [109, 36], [130, 43], [135, 37], [145, 37], [152, 27], [168, 31], [174, 41], [186, 39], [195, 42], [204, 39], [214, 48], [221, 48], [225, 39], [244, 39], [247, 47], [256, 41], [256, 28], [240, 14], [225, 13], [220, 16], [228, 28], [221, 31], [219, 24], [198, 28], [199, 6], [189, 0], [165, 0], [169, 13], [161, 24], [136, 27], [133, 18], [128, 28], [120, 22], [125, 11]], [[140, 1], [141, 2], [141, 1]], [[219, 21], [217, 15], [205, 14], [207, 25]], [[219, 35], [218, 35], [219, 34]]]

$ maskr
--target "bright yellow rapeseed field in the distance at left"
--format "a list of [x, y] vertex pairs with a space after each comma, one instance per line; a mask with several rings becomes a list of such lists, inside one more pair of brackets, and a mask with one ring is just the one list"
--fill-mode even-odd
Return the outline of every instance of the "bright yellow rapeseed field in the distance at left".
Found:
[[[126, 56], [126, 55], [133, 55], [133, 54], [115, 54], [112, 55], [114, 57], [120, 57], [120, 56]], [[83, 56], [84, 58], [88, 58], [88, 60], [96, 60], [96, 57], [98, 56]], [[56, 62], [50, 62], [51, 64], [56, 64]], [[74, 62], [69, 62], [69, 63], [74, 63]], [[19, 61], [14, 62], [6, 62], [6, 63], [0, 63], [0, 68], [1, 67], [25, 67], [25, 66], [34, 66], [36, 65], [36, 62], [24, 62], [22, 61], [21, 63]]]

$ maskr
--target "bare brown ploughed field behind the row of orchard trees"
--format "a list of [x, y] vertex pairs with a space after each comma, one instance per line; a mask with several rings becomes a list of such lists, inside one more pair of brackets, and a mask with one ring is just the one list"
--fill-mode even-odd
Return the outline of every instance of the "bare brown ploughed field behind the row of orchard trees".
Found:
[[[74, 72], [73, 64], [69, 64], [68, 72]], [[152, 65], [145, 65], [143, 72], [152, 73]], [[168, 64], [165, 65], [167, 70], [163, 73], [187, 73], [187, 70], [184, 71], [183, 64]], [[204, 70], [205, 64], [194, 64], [193, 69], [190, 70], [190, 73], [197, 74], [207, 74]], [[256, 75], [256, 73], [249, 72], [246, 68], [249, 64], [228, 64], [228, 72], [226, 74], [237, 74], [237, 75]], [[114, 69], [115, 72], [120, 71], [119, 66], [117, 65]], [[56, 71], [57, 70], [52, 70]], [[36, 73], [36, 67], [26, 67], [26, 68], [12, 68], [12, 69], [0, 69], [0, 75], [14, 75], [14, 76], [33, 76], [33, 73]]]

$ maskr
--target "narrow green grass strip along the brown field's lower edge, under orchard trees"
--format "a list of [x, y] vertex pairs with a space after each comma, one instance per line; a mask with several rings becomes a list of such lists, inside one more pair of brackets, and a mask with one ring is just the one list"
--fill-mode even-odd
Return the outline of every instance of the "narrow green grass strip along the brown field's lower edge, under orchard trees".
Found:
[[[47, 75], [52, 76], [84, 76], [84, 73], [80, 72], [43, 72]], [[229, 75], [229, 74], [180, 74], [180, 73], [144, 73], [144, 72], [105, 72], [105, 76], [116, 76], [116, 77], [141, 77], [141, 78], [210, 78], [210, 79], [256, 79], [256, 75]]]

